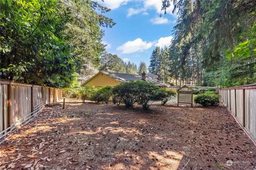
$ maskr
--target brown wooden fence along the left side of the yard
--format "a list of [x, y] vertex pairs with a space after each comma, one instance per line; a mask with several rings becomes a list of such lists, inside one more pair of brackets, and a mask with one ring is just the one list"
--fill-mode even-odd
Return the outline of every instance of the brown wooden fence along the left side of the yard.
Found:
[[[62, 90], [0, 80], [0, 141], [13, 125], [21, 124], [35, 109], [62, 99]], [[40, 107], [39, 107], [40, 106]], [[26, 119], [27, 120], [27, 119]]]

